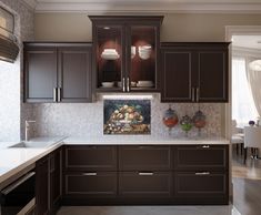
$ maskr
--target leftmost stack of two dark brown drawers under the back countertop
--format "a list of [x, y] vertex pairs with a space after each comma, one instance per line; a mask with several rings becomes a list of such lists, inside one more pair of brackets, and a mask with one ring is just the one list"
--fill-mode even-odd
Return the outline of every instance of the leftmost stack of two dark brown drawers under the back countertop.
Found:
[[117, 146], [67, 145], [63, 153], [64, 204], [91, 204], [116, 198]]

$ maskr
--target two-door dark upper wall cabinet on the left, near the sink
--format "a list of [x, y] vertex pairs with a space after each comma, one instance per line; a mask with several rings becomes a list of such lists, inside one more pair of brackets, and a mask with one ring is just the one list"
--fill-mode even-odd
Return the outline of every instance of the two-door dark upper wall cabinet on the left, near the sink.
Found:
[[90, 43], [24, 43], [26, 102], [91, 102]]

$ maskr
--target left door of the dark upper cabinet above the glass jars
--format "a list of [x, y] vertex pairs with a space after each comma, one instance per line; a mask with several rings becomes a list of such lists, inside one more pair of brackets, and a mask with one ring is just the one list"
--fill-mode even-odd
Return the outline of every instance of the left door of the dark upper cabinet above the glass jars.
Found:
[[188, 102], [191, 95], [191, 52], [162, 51], [162, 102]]

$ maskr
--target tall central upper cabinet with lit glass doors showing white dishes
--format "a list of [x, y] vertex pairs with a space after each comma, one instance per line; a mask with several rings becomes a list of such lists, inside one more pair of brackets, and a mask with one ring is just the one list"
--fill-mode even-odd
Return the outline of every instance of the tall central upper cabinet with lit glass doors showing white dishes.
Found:
[[97, 92], [160, 90], [158, 52], [163, 17], [90, 16]]

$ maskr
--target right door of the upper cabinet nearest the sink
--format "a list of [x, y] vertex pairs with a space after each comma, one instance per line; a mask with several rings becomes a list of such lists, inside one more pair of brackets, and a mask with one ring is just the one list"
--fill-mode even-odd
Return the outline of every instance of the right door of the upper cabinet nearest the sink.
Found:
[[91, 100], [91, 47], [59, 49], [61, 101]]

